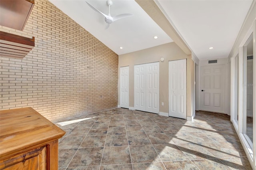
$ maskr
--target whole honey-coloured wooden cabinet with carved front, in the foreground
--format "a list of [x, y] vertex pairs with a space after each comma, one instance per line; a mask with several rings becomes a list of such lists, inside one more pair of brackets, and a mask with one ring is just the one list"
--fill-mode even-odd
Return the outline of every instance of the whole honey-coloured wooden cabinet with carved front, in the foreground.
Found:
[[64, 134], [31, 107], [0, 111], [0, 170], [57, 170]]

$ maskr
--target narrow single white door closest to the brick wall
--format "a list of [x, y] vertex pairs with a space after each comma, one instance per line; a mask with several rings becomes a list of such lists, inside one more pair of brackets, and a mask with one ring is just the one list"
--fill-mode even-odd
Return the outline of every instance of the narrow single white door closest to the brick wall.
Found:
[[129, 109], [129, 66], [120, 67], [120, 107]]

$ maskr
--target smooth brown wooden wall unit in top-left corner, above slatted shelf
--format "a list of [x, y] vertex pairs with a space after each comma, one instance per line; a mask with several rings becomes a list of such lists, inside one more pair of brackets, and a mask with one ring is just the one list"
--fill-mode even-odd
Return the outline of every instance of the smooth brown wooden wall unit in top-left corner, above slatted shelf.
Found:
[[22, 31], [34, 4], [34, 0], [0, 0], [0, 25]]

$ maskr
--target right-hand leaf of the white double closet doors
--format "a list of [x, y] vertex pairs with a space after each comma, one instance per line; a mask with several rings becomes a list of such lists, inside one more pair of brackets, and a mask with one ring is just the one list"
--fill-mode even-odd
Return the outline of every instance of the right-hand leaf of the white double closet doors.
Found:
[[149, 63], [146, 68], [146, 111], [159, 113], [159, 63]]

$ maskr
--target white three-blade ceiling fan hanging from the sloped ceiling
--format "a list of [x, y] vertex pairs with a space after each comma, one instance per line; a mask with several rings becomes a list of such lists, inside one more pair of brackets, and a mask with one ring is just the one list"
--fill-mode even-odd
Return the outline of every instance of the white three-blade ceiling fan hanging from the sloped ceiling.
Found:
[[111, 0], [107, 0], [107, 5], [108, 5], [108, 15], [100, 12], [99, 10], [97, 10], [94, 6], [92, 6], [91, 4], [89, 4], [87, 1], [85, 1], [94, 11], [102, 14], [105, 17], [105, 22], [106, 22], [106, 28], [107, 29], [109, 27], [109, 25], [116, 21], [116, 20], [120, 20], [122, 18], [126, 18], [128, 16], [133, 16], [133, 14], [119, 14], [117, 16], [111, 16], [110, 15], [110, 6], [112, 6], [113, 2]]

